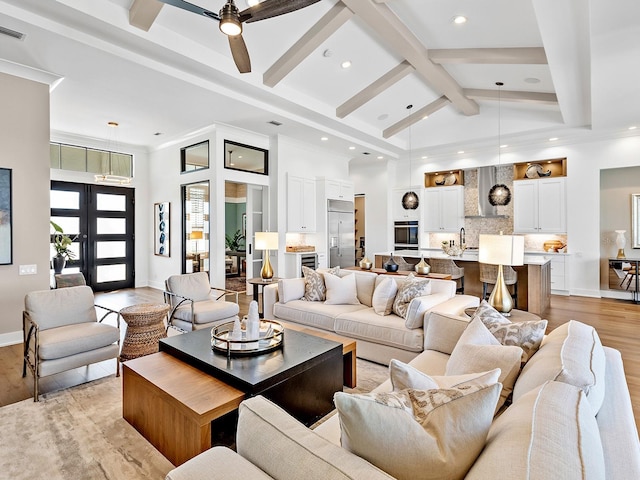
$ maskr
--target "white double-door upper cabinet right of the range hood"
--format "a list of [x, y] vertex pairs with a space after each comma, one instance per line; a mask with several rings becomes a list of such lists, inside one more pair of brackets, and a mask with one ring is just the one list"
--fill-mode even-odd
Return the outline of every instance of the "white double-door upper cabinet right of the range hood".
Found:
[[566, 177], [514, 181], [514, 233], [566, 233], [566, 204]]

